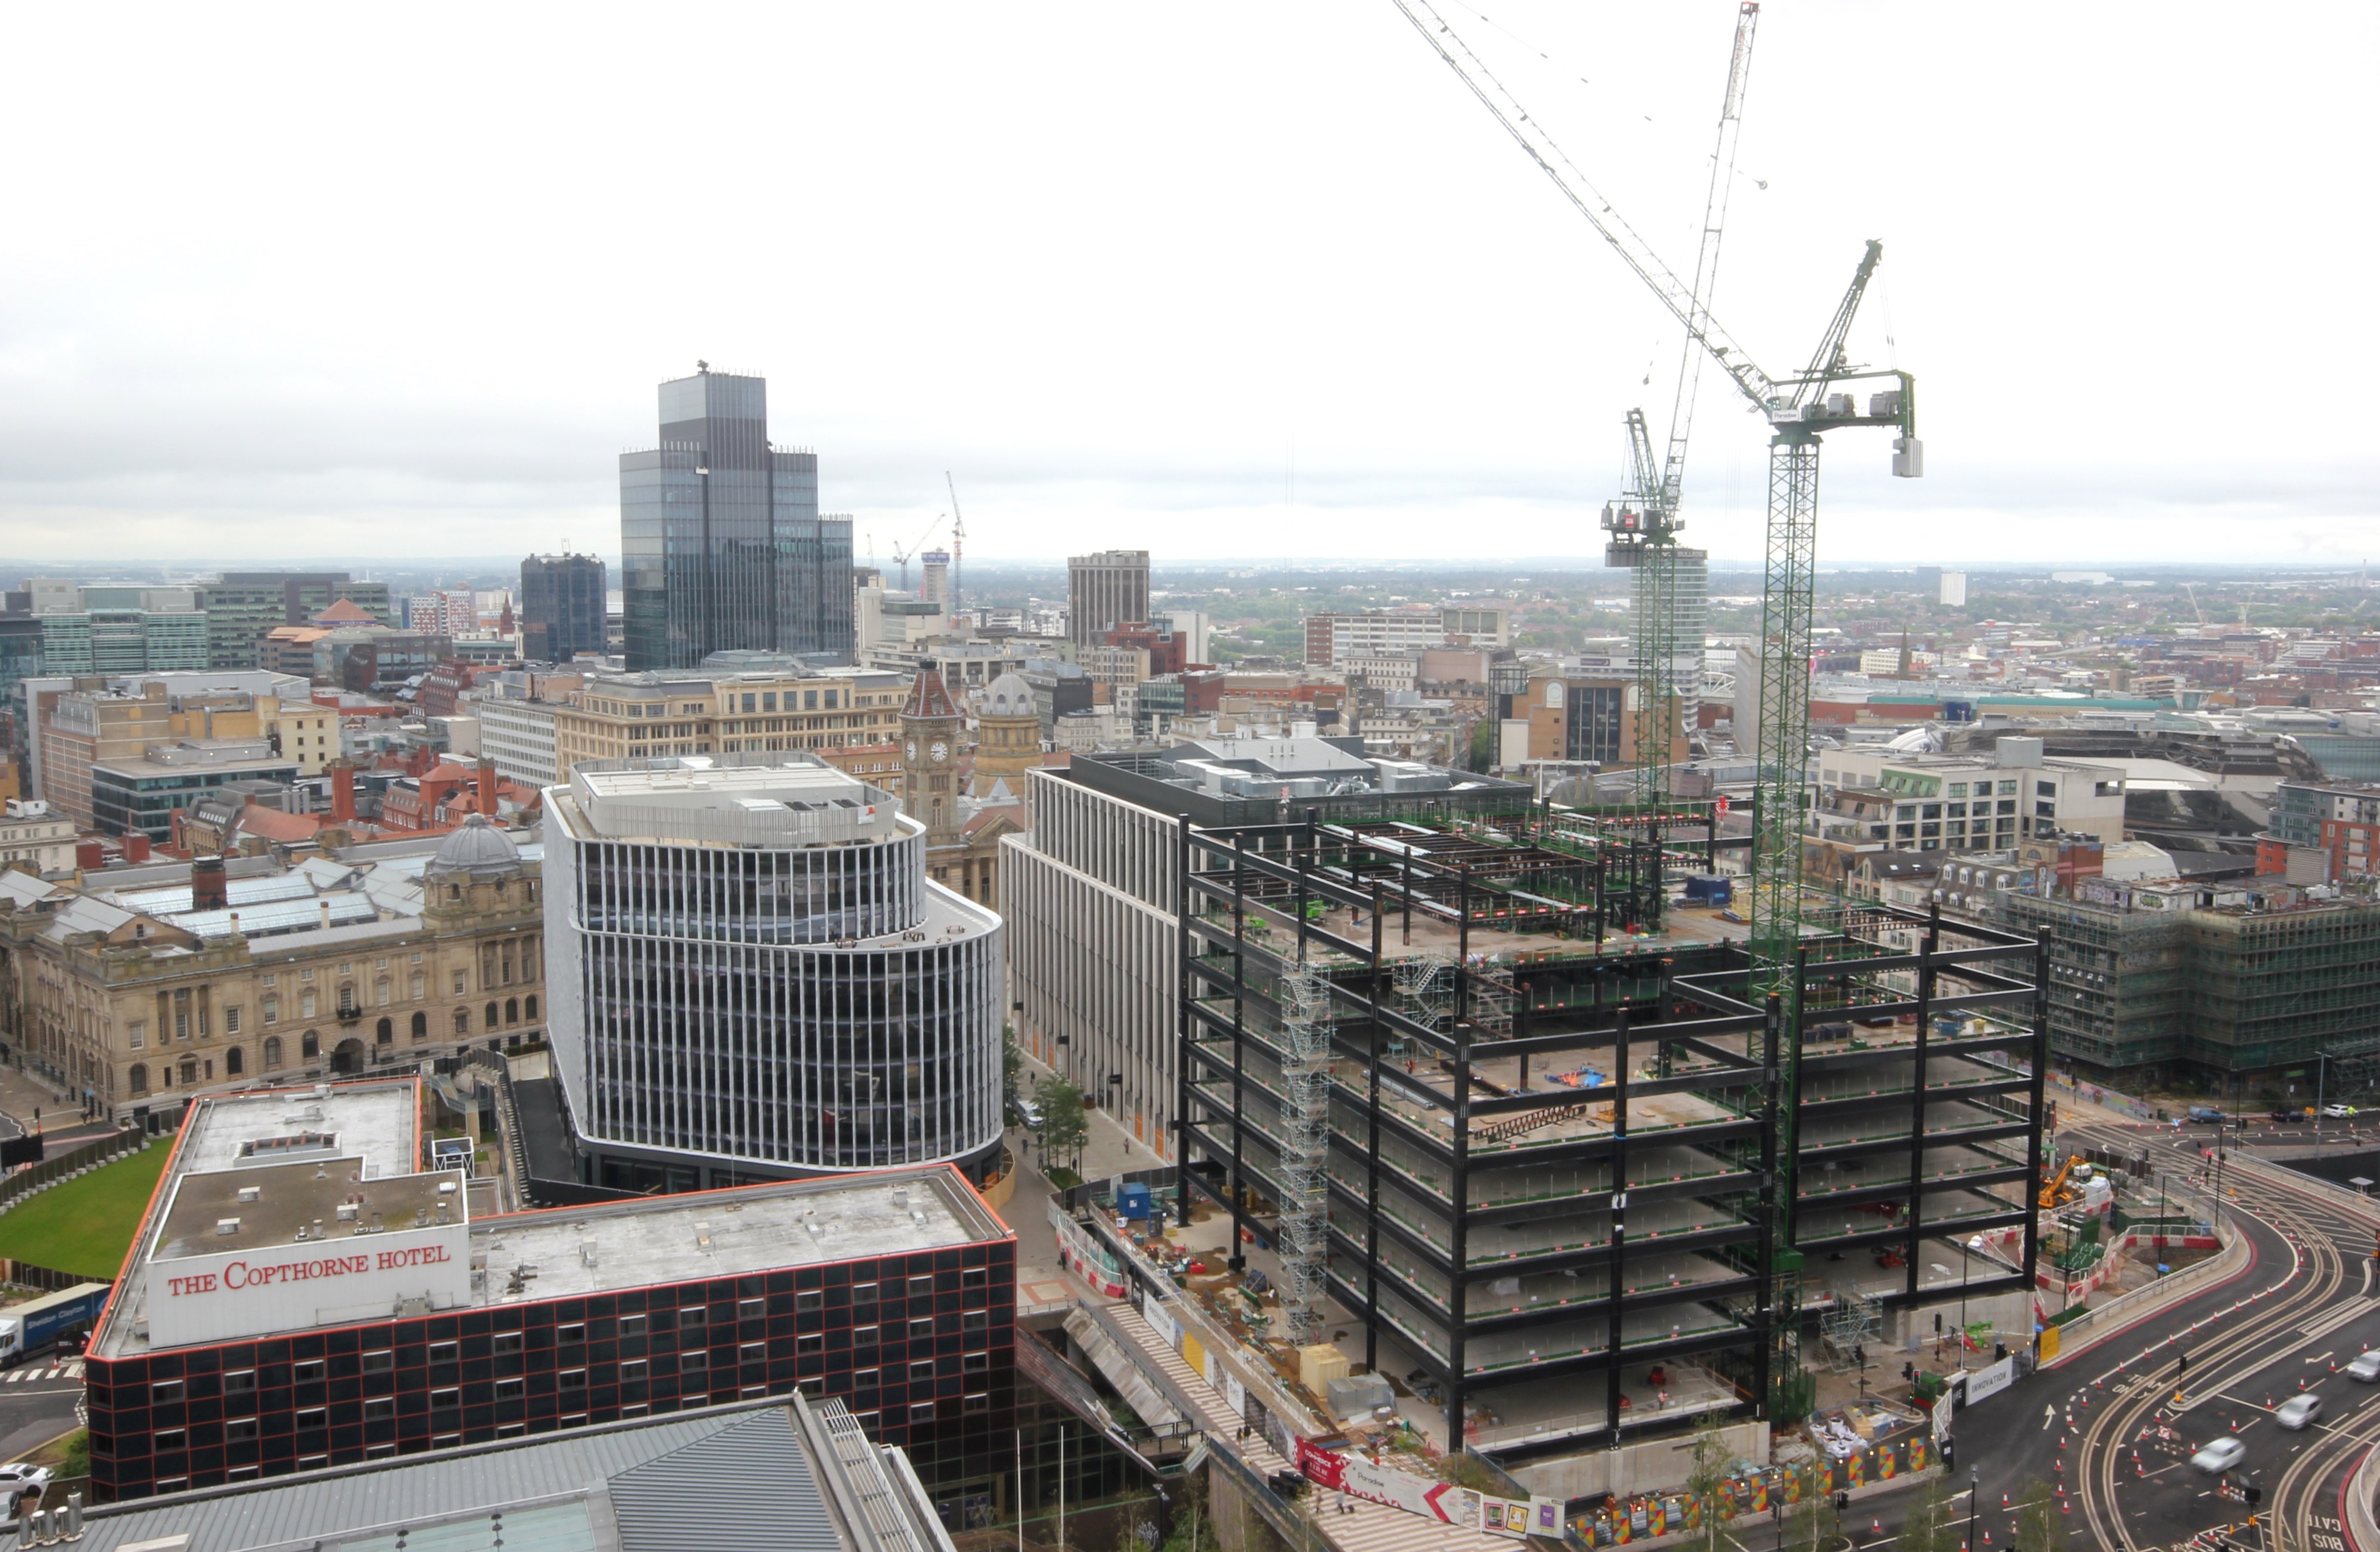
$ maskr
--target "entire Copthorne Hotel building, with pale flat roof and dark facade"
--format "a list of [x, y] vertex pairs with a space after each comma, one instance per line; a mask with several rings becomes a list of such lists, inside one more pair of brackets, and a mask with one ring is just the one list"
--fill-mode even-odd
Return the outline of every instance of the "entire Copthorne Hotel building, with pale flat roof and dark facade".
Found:
[[426, 1114], [193, 1107], [86, 1352], [98, 1502], [793, 1390], [928, 1483], [1014, 1464], [1016, 1235], [957, 1171], [471, 1219]]

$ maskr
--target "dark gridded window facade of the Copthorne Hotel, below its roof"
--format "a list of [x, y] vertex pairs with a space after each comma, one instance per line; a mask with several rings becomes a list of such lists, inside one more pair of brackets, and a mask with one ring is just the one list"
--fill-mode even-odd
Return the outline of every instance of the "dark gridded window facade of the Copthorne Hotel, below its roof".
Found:
[[788, 1390], [843, 1397], [928, 1483], [988, 1476], [1009, 1464], [1014, 1328], [1016, 1245], [988, 1240], [90, 1357], [90, 1488], [114, 1502]]

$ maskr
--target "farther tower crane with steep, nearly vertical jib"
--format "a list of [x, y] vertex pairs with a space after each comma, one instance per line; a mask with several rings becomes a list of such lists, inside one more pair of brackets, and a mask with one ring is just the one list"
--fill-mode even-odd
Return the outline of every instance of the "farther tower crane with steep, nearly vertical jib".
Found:
[[[1711, 186], [1702, 200], [1702, 245], [1695, 252], [1695, 286], [1687, 293], [1690, 314], [1702, 324], [1711, 317], [1711, 293], [1718, 288], [1718, 243], [1728, 224], [1728, 193], [1735, 188], [1735, 140], [1745, 124], [1745, 83], [1752, 76], [1752, 36], [1759, 26], [1759, 0], [1742, 0], [1735, 12], [1735, 45], [1728, 50], [1728, 90], [1718, 100], [1718, 145], [1711, 150]], [[1678, 659], [1690, 657], [1695, 686], [1702, 681], [1702, 640], [1680, 643], [1680, 571], [1678, 502], [1685, 488], [1685, 445], [1695, 428], [1695, 388], [1702, 381], [1702, 348], [1687, 333], [1678, 352], [1678, 398], [1668, 414], [1668, 457], [1654, 464], [1652, 431], [1642, 409], [1628, 412], [1630, 488], [1618, 502], [1604, 505], [1604, 564], [1635, 571], [1635, 712], [1628, 721], [1635, 745], [1637, 831], [1630, 845], [1630, 926], [1661, 928], [1666, 905], [1664, 852], [1668, 828], [1668, 757], [1690, 702], [1678, 674]], [[1687, 736], [1692, 733], [1685, 728]]]

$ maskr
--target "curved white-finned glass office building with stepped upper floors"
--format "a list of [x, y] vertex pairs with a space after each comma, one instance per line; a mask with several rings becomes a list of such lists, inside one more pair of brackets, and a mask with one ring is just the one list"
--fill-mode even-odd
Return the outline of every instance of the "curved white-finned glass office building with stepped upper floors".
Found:
[[693, 1190], [1000, 1150], [1000, 916], [809, 755], [590, 762], [545, 795], [581, 1178]]

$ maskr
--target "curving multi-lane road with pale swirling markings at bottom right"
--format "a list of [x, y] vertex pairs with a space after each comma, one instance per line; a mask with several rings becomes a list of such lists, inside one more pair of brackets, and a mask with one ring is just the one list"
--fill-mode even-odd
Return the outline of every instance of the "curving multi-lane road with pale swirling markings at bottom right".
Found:
[[[2178, 1147], [2171, 1135], [2137, 1126], [2061, 1133], [2066, 1143], [2147, 1147], [2152, 1159], [2171, 1154], [2182, 1169], [2202, 1147], [2187, 1131]], [[2340, 1490], [2380, 1443], [2380, 1385], [2344, 1373], [2359, 1352], [2380, 1347], [2370, 1259], [2380, 1204], [2359, 1212], [2337, 1193], [2237, 1157], [2223, 1185], [2237, 1193], [2251, 1250], [2244, 1271], [2059, 1359], [1959, 1419], [1959, 1471], [1980, 1471], [1980, 1519], [1997, 1545], [2011, 1531], [2002, 1495], [2013, 1502], [2033, 1476], [2066, 1490], [2061, 1519], [2078, 1547], [2171, 1547], [2240, 1523], [2249, 1509], [2190, 1466], [2197, 1447], [2237, 1435], [2247, 1457], [2225, 1481], [2263, 1490], [2259, 1509], [2273, 1552], [2344, 1547]], [[2190, 1366], [2178, 1400], [2180, 1354]], [[2320, 1397], [2323, 1416], [2290, 1433], [2273, 1421], [2273, 1407], [2299, 1393]]]

